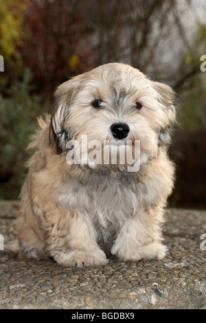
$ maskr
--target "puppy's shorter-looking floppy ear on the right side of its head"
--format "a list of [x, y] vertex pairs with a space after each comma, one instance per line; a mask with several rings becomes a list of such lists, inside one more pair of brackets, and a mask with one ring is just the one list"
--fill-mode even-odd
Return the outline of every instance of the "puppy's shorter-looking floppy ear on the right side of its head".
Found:
[[159, 146], [168, 147], [175, 124], [176, 110], [174, 104], [176, 102], [176, 93], [171, 87], [159, 82], [153, 82], [153, 88], [158, 93], [157, 100], [161, 103], [161, 109], [165, 114], [165, 125], [159, 129]]

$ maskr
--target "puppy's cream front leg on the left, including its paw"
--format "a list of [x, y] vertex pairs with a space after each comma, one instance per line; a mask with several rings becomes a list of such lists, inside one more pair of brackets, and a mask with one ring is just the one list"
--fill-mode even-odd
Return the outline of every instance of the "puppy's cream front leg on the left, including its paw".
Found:
[[62, 218], [52, 228], [47, 239], [47, 251], [65, 267], [105, 265], [106, 255], [95, 241], [92, 223], [83, 214]]

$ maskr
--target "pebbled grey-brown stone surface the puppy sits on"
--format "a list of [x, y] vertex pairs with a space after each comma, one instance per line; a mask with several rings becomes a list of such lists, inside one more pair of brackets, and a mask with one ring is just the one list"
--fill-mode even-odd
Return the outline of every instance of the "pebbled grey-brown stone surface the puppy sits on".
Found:
[[[0, 234], [14, 239], [19, 202], [0, 202]], [[62, 268], [0, 250], [0, 309], [206, 309], [206, 212], [168, 209], [163, 260]], [[206, 237], [205, 237], [206, 241]], [[202, 249], [201, 249], [202, 243]], [[205, 249], [205, 250], [204, 250]]]

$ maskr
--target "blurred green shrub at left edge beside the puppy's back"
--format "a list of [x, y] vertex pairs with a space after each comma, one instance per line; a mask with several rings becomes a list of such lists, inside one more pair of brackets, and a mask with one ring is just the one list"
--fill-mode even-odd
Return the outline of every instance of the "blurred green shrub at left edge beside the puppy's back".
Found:
[[0, 198], [14, 199], [19, 195], [25, 175], [26, 151], [30, 135], [34, 133], [36, 116], [42, 111], [41, 100], [31, 96], [32, 72], [25, 69], [23, 79], [12, 83], [8, 97], [0, 95]]

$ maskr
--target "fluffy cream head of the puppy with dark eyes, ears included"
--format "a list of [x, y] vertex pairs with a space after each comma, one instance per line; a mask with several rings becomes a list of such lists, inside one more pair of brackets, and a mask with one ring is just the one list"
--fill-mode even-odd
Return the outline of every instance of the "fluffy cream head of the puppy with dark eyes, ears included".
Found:
[[107, 141], [111, 146], [139, 140], [141, 164], [145, 164], [157, 156], [159, 146], [170, 143], [173, 102], [170, 87], [152, 82], [138, 69], [119, 63], [102, 65], [58, 87], [50, 137], [58, 154], [67, 150], [69, 140], [81, 145], [82, 135], [87, 135], [87, 142]]

